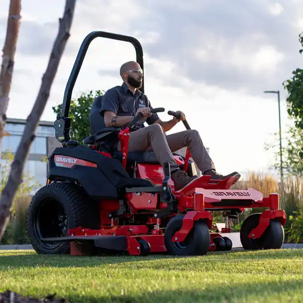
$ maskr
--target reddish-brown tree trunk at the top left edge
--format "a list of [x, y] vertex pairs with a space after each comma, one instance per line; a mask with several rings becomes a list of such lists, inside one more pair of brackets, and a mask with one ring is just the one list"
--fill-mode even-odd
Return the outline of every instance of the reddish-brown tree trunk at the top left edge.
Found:
[[6, 135], [5, 123], [14, 71], [14, 58], [20, 26], [21, 0], [11, 0], [7, 24], [7, 36], [3, 48], [0, 71], [0, 159], [2, 155], [2, 138]]

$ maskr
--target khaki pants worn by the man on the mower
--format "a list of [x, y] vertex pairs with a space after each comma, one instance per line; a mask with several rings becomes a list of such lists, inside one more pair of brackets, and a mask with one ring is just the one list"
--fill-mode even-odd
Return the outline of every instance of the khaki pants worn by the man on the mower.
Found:
[[152, 124], [130, 132], [128, 141], [129, 152], [154, 151], [162, 166], [165, 162], [170, 162], [174, 166], [176, 161], [172, 153], [183, 147], [189, 147], [191, 156], [202, 174], [215, 169], [199, 132], [195, 129], [166, 135], [160, 124]]

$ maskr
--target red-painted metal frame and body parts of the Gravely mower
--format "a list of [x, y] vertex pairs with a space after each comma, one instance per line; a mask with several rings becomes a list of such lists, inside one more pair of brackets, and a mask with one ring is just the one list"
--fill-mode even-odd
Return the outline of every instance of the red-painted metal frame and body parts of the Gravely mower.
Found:
[[[121, 153], [123, 155], [122, 165], [126, 169], [127, 154], [128, 154], [128, 140], [129, 140], [129, 128], [121, 130], [118, 134], [121, 145]], [[94, 147], [92, 147], [94, 148]], [[104, 156], [110, 157], [110, 154], [103, 153]], [[185, 161], [179, 157], [175, 157], [179, 164], [184, 165], [184, 170], [187, 171], [189, 159], [191, 158], [190, 152], [187, 148]], [[84, 165], [84, 164], [82, 164]], [[88, 163], [89, 166], [91, 164]], [[156, 186], [162, 186], [164, 179], [164, 172], [161, 165], [148, 165], [138, 164], [135, 172], [136, 178], [148, 179], [153, 182]], [[170, 179], [169, 185], [178, 200], [178, 210], [180, 213], [187, 212], [183, 219], [183, 226], [181, 230], [175, 233], [173, 241], [182, 242], [192, 229], [194, 221], [204, 220], [209, 229], [212, 228], [213, 218], [211, 210], [221, 209], [222, 211], [227, 208], [226, 205], [217, 205], [222, 200], [251, 200], [250, 205], [236, 205], [228, 206], [228, 209], [240, 209], [254, 208], [254, 207], [268, 207], [269, 210], [263, 211], [260, 216], [259, 225], [251, 231], [249, 234], [250, 238], [260, 237], [271, 219], [280, 220], [282, 226], [285, 225], [286, 215], [283, 210], [279, 209], [279, 197], [277, 194], [271, 194], [269, 197], [262, 197], [262, 194], [254, 189], [247, 190], [230, 190], [231, 185], [236, 181], [236, 178], [231, 177], [226, 180], [219, 181], [217, 183], [211, 183], [210, 176], [202, 176], [197, 179], [194, 183], [184, 188], [182, 191], [174, 191], [174, 183]], [[167, 207], [166, 203], [160, 202], [161, 193], [126, 193], [126, 203], [132, 214], [122, 215], [121, 217], [131, 217], [138, 210], [146, 211], [146, 214], [153, 210], [160, 210]], [[103, 200], [99, 202], [100, 222], [101, 228], [98, 230], [92, 230], [88, 228], [82, 228], [79, 226], [75, 229], [69, 229], [68, 235], [73, 236], [85, 236], [87, 240], [90, 237], [114, 237], [114, 236], [125, 236], [127, 238], [127, 251], [131, 255], [140, 254], [140, 245], [138, 241], [140, 239], [146, 240], [150, 245], [151, 252], [165, 252], [164, 234], [162, 229], [156, 227], [150, 233], [148, 233], [148, 225], [157, 223], [157, 219], [149, 217], [145, 225], [118, 225], [118, 220], [110, 219], [108, 217], [109, 212], [117, 210], [119, 208], [119, 201]], [[172, 217], [177, 214], [171, 215]], [[161, 219], [159, 219], [161, 224]], [[222, 232], [230, 232], [230, 228], [222, 229]], [[219, 233], [211, 233], [211, 241], [209, 251], [216, 249], [212, 239], [216, 236], [221, 236]], [[71, 241], [71, 254], [83, 254], [81, 248], [75, 244], [76, 242]]]

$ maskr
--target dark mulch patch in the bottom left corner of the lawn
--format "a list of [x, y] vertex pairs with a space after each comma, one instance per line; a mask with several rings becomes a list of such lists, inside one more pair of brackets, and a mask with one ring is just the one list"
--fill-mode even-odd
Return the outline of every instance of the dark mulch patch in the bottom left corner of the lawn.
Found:
[[38, 302], [54, 302], [54, 303], [69, 303], [64, 298], [55, 298], [56, 293], [48, 295], [43, 299], [37, 299], [34, 297], [24, 297], [21, 294], [7, 290], [6, 292], [0, 293], [0, 303], [38, 303]]

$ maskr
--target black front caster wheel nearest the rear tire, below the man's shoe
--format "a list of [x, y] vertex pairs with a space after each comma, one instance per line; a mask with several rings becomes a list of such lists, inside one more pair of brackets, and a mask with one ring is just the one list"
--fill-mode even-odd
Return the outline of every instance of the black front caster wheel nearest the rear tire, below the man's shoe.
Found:
[[203, 220], [194, 222], [194, 226], [184, 242], [173, 241], [174, 234], [182, 228], [184, 216], [175, 216], [166, 227], [164, 241], [167, 252], [177, 256], [207, 254], [210, 245], [210, 234], [208, 226]]

